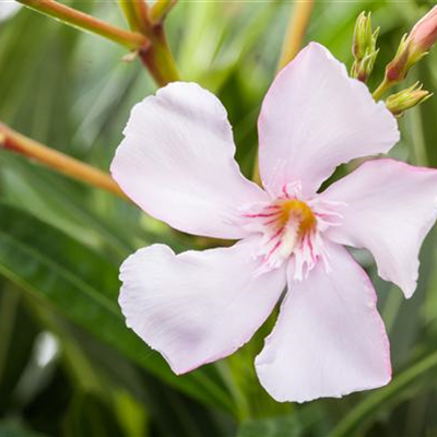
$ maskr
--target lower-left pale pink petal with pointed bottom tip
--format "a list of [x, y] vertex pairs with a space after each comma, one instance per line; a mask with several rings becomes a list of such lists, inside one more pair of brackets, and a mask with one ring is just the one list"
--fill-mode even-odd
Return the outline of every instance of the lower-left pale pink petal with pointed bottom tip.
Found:
[[120, 306], [128, 327], [176, 374], [225, 357], [272, 311], [285, 269], [256, 276], [258, 240], [175, 256], [167, 246], [140, 249], [121, 267]]

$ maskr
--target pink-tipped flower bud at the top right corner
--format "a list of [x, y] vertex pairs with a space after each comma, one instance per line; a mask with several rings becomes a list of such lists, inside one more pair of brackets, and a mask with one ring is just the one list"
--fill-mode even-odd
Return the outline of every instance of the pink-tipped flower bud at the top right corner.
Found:
[[410, 35], [404, 35], [394, 59], [387, 66], [386, 78], [391, 83], [405, 79], [409, 70], [417, 63], [437, 40], [437, 7], [420, 20]]

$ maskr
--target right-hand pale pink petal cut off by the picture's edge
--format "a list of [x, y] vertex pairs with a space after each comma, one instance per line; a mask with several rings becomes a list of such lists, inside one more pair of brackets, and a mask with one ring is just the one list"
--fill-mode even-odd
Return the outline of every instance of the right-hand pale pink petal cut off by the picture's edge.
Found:
[[379, 275], [411, 297], [417, 285], [418, 252], [437, 216], [437, 170], [393, 160], [363, 164], [322, 193], [343, 201], [343, 225], [329, 238], [369, 250]]

